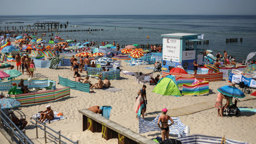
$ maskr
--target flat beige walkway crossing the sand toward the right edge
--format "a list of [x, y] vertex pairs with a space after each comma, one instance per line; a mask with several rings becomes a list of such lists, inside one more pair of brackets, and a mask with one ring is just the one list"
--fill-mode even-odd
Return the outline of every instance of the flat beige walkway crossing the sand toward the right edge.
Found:
[[[246, 96], [243, 99], [240, 99], [240, 101], [247, 101], [250, 99], [256, 99], [256, 97]], [[190, 115], [192, 113], [197, 113], [199, 111], [205, 111], [207, 109], [212, 109], [214, 107], [215, 101], [206, 101], [203, 103], [197, 103], [195, 105], [188, 105], [185, 107], [179, 107], [176, 109], [171, 109], [168, 112], [168, 115], [170, 117], [178, 117], [182, 115]]]

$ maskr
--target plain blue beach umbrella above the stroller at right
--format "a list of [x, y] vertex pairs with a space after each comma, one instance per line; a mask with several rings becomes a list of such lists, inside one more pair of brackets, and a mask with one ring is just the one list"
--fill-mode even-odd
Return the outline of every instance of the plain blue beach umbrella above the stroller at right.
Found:
[[237, 87], [233, 87], [230, 85], [225, 85], [223, 87], [220, 87], [217, 90], [219, 91], [219, 93], [222, 93], [223, 95], [227, 95], [229, 97], [237, 97], [237, 98], [245, 97], [245, 94], [240, 89], [237, 89]]

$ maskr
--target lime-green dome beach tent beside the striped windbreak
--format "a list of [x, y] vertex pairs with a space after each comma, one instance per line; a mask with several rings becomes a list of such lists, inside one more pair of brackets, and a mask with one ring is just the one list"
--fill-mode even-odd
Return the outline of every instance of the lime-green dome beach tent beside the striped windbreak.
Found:
[[177, 86], [175, 77], [173, 75], [167, 75], [166, 77], [161, 78], [153, 92], [159, 93], [161, 95], [174, 95], [174, 96], [181, 96], [181, 92]]

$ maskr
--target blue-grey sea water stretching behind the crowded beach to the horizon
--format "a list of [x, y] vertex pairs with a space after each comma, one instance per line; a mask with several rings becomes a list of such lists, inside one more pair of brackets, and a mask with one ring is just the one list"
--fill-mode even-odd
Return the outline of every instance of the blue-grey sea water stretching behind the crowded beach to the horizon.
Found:
[[[24, 22], [5, 24], [6, 22]], [[78, 42], [109, 41], [109, 43], [156, 44], [162, 43], [161, 34], [165, 33], [204, 33], [209, 45], [198, 45], [199, 49], [211, 49], [213, 55], [226, 50], [237, 61], [243, 61], [247, 55], [256, 51], [256, 16], [255, 15], [33, 15], [33, 16], [0, 16], [1, 30], [4, 26], [33, 25], [36, 21], [69, 22], [67, 29], [104, 29], [59, 33], [63, 39], [74, 39]], [[79, 27], [72, 27], [77, 25]], [[142, 29], [139, 29], [142, 27]], [[64, 29], [61, 29], [64, 30]], [[47, 33], [42, 36], [49, 40]], [[40, 34], [37, 35], [41, 37]], [[149, 36], [149, 39], [147, 39]], [[243, 42], [239, 38], [243, 37]], [[238, 43], [225, 43], [225, 39], [237, 38]], [[256, 59], [256, 58], [254, 58]]]

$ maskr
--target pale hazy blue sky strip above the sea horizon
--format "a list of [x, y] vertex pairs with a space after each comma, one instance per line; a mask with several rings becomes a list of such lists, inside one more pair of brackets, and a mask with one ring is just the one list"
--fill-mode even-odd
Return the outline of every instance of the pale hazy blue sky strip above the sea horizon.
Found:
[[0, 3], [0, 15], [256, 15], [256, 0], [0, 0]]

